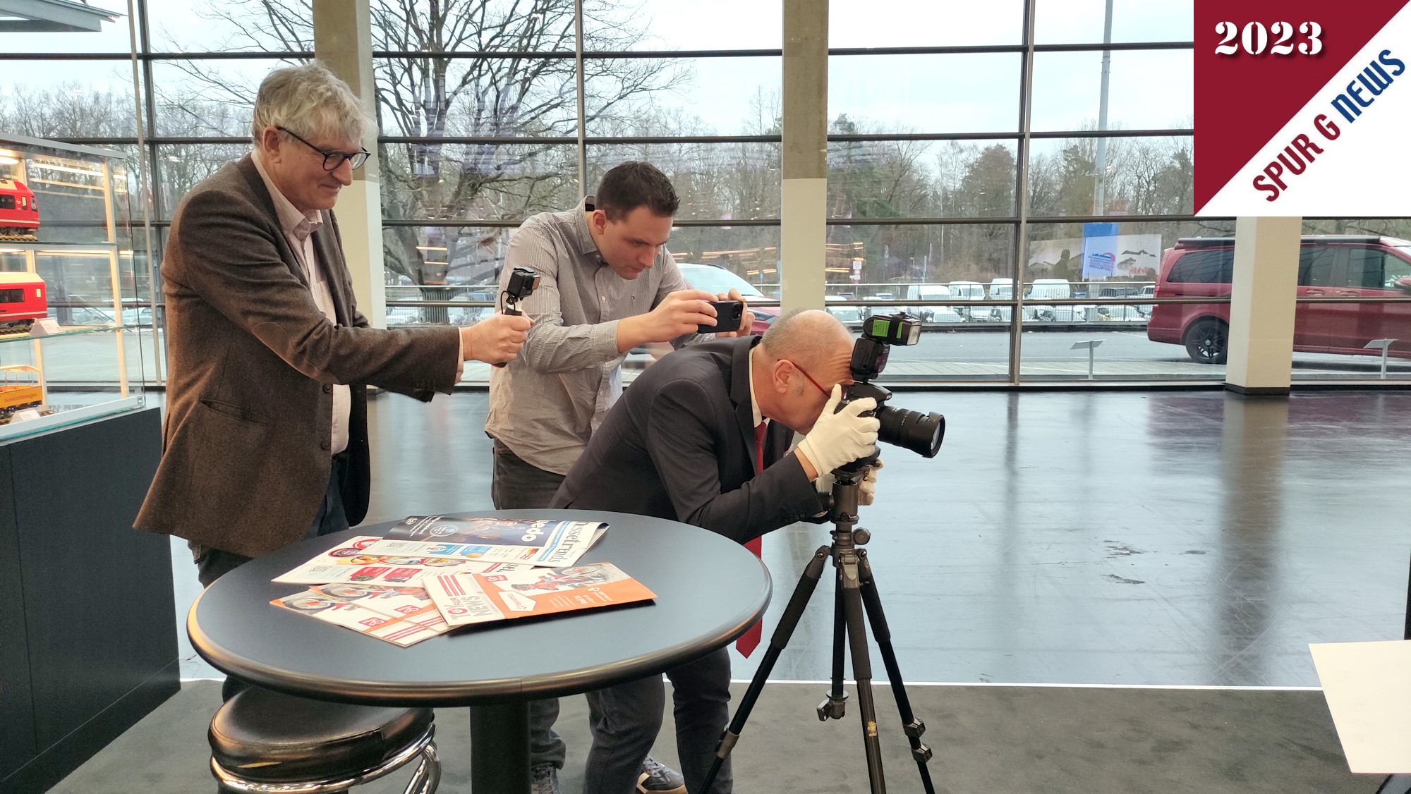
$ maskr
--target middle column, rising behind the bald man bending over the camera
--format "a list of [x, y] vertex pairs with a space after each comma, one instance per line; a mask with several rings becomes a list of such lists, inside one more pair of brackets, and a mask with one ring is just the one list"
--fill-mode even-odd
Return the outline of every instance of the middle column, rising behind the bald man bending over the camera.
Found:
[[828, 228], [828, 3], [785, 0], [783, 196], [779, 282], [783, 312], [823, 309]]

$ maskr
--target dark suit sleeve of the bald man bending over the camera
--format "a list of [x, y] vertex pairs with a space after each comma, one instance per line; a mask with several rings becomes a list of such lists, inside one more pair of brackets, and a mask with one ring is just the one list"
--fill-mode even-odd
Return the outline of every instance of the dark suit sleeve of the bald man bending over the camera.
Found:
[[665, 384], [648, 410], [648, 453], [677, 520], [744, 543], [821, 509], [794, 456], [785, 456], [738, 489], [721, 494], [718, 434], [735, 433], [735, 417], [728, 415], [721, 422], [700, 382]]

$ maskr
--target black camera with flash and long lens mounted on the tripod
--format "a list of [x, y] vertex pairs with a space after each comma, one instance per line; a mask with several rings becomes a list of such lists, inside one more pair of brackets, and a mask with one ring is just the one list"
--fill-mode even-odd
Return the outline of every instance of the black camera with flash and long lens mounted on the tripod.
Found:
[[[893, 346], [916, 344], [920, 337], [921, 320], [906, 312], [873, 314], [864, 320], [862, 338], [852, 346], [852, 361], [848, 365], [854, 382], [844, 386], [838, 410], [855, 399], [872, 398], [878, 401], [876, 410], [864, 413], [864, 416], [876, 416], [882, 423], [882, 427], [878, 429], [878, 440], [931, 458], [941, 450], [941, 440], [945, 437], [945, 417], [940, 413], [923, 416], [914, 410], [889, 406], [886, 401], [892, 398], [892, 392], [869, 382], [886, 368], [886, 360]], [[876, 454], [849, 465], [868, 465], [873, 460], [876, 460]]]

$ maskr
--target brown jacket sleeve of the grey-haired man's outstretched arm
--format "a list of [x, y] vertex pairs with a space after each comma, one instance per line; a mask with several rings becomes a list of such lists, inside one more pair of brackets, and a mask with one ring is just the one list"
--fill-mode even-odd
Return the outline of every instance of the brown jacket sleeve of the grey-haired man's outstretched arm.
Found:
[[456, 329], [387, 331], [367, 327], [360, 313], [353, 327], [330, 323], [279, 255], [271, 227], [254, 213], [231, 212], [231, 200], [217, 190], [188, 199], [172, 238], [181, 255], [171, 278], [310, 378], [452, 391]]

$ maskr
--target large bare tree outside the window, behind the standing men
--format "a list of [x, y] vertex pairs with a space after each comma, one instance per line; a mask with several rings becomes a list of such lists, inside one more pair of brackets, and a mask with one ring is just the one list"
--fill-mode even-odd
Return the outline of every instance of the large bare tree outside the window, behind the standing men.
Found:
[[[203, 13], [237, 31], [223, 49], [313, 49], [308, 0], [212, 3]], [[382, 135], [574, 134], [573, 0], [371, 0], [371, 13], [375, 49], [429, 54], [374, 61]], [[584, 48], [629, 49], [641, 42], [646, 34], [632, 28], [632, 13], [631, 6], [608, 0], [584, 3]], [[207, 99], [248, 104], [253, 96], [253, 85], [231, 80], [207, 62], [182, 68]], [[631, 114], [643, 97], [673, 87], [683, 76], [683, 69], [663, 61], [588, 61], [584, 121]], [[391, 219], [518, 220], [571, 206], [579, 193], [571, 144], [388, 142], [381, 148], [381, 166], [384, 214]], [[392, 226], [384, 236], [387, 267], [418, 285], [446, 283], [452, 268], [463, 271], [456, 274], [461, 279], [491, 281], [498, 259], [480, 254], [502, 248], [501, 234], [497, 227]]]

